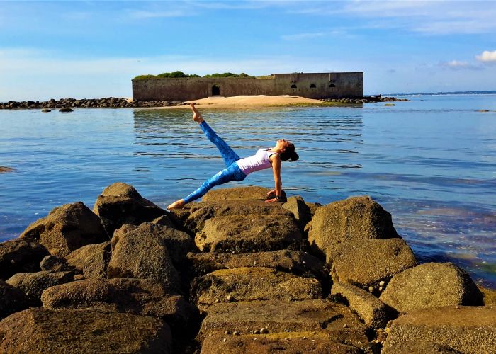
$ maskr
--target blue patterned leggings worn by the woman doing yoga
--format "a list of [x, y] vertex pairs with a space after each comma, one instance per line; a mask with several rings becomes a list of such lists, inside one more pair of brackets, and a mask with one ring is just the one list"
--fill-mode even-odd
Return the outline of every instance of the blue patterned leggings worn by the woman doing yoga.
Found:
[[222, 138], [215, 134], [213, 129], [207, 124], [207, 122], [205, 122], [205, 120], [201, 122], [200, 127], [210, 142], [213, 142], [215, 146], [218, 147], [226, 168], [208, 178], [207, 181], [203, 182], [200, 188], [184, 198], [184, 202], [192, 202], [193, 200], [203, 197], [203, 195], [205, 195], [208, 190], [215, 187], [215, 185], [221, 185], [230, 181], [243, 181], [244, 178], [247, 177], [247, 175], [239, 169], [239, 166], [237, 166], [239, 156], [229, 147], [229, 145], [227, 145]]

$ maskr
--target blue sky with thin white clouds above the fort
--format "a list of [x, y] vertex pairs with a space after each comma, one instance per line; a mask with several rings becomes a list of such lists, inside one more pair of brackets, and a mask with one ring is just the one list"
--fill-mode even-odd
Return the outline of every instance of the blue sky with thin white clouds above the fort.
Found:
[[132, 96], [140, 74], [363, 72], [496, 90], [496, 1], [1, 1], [0, 101]]

